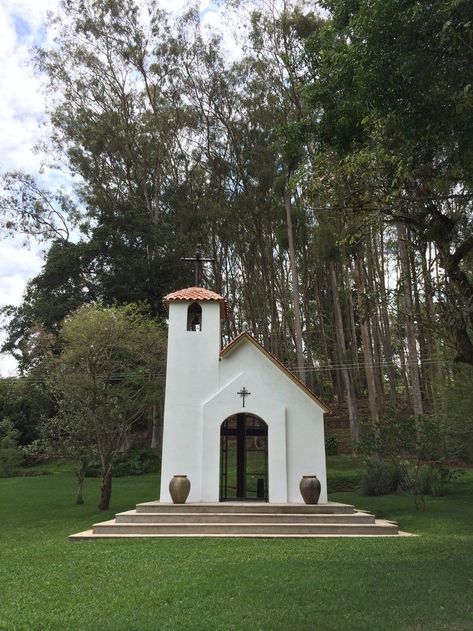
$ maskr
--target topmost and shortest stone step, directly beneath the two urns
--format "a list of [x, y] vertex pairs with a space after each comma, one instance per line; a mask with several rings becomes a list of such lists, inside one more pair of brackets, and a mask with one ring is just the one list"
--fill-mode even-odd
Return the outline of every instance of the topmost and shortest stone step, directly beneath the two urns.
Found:
[[327, 502], [326, 504], [270, 504], [268, 502], [212, 502], [195, 504], [171, 504], [167, 502], [143, 502], [137, 504], [137, 513], [353, 513], [351, 504]]

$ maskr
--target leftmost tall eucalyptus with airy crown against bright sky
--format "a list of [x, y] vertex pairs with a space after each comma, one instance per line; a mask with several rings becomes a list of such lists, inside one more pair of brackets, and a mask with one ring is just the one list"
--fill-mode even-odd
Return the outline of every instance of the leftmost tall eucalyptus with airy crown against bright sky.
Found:
[[105, 300], [159, 311], [179, 270], [169, 198], [192, 126], [167, 16], [154, 3], [65, 1], [54, 27], [37, 64], [56, 94], [53, 145], [80, 176], [94, 275]]

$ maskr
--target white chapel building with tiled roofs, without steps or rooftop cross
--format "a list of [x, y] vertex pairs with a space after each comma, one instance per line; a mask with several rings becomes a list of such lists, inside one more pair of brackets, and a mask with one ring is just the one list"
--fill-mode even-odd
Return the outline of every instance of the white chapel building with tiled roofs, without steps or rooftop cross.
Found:
[[188, 502], [300, 503], [316, 475], [327, 502], [323, 414], [327, 406], [244, 332], [221, 348], [227, 303], [189, 287], [169, 310], [161, 502], [187, 475]]

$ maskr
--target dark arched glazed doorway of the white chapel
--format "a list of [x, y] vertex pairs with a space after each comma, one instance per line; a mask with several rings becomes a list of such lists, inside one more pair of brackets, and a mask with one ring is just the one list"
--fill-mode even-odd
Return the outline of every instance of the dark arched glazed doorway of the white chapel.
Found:
[[268, 426], [234, 414], [220, 426], [220, 501], [268, 501]]

